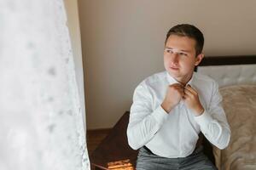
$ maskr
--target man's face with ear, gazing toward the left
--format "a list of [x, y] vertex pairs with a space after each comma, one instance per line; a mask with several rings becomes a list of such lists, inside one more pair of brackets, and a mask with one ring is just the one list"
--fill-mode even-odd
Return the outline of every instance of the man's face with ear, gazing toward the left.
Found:
[[189, 82], [195, 65], [199, 65], [203, 54], [195, 56], [195, 40], [171, 35], [166, 41], [164, 64], [166, 71], [178, 82]]

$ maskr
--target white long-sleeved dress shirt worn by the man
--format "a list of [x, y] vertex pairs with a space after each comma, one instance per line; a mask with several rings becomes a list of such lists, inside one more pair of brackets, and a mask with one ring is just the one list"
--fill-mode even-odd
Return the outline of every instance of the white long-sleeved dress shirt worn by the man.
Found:
[[177, 83], [167, 71], [146, 78], [135, 89], [127, 128], [128, 143], [137, 150], [146, 145], [155, 155], [176, 158], [195, 150], [198, 134], [219, 149], [230, 141], [230, 126], [221, 106], [218, 84], [194, 72], [188, 84], [199, 94], [205, 111], [195, 116], [183, 100], [169, 114], [161, 107], [168, 85]]

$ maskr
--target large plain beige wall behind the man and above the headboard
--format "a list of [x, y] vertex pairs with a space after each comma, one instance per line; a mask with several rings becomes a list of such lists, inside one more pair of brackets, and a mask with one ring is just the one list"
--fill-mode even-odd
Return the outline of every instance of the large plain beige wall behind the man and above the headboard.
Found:
[[207, 55], [256, 54], [253, 0], [79, 0], [87, 127], [112, 127], [137, 84], [163, 71], [166, 31], [190, 23]]

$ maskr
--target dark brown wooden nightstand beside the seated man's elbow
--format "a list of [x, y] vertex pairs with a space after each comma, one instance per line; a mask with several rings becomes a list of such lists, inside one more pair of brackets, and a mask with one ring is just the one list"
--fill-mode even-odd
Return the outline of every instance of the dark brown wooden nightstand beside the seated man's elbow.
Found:
[[119, 119], [108, 136], [102, 140], [90, 155], [91, 169], [108, 169], [108, 162], [130, 159], [132, 167], [136, 167], [138, 150], [128, 145], [126, 129], [129, 122], [129, 111]]

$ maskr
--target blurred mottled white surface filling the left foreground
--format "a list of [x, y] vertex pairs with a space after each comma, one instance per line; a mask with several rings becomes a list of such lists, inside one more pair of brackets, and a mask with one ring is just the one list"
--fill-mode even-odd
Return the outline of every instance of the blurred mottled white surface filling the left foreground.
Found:
[[0, 169], [90, 169], [62, 0], [0, 0]]

